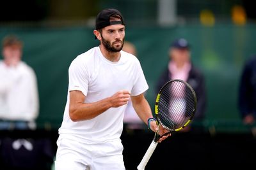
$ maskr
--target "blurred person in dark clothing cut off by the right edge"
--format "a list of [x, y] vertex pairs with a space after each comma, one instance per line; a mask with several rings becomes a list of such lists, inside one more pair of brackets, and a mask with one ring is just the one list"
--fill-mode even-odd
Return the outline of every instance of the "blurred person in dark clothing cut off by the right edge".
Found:
[[239, 87], [239, 110], [244, 124], [253, 124], [256, 114], [256, 56], [243, 68]]

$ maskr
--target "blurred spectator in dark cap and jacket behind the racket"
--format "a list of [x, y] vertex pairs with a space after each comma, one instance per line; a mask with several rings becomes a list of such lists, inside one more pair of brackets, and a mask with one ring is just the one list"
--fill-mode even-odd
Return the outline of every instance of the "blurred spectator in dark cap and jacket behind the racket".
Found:
[[[157, 81], [157, 92], [169, 80], [180, 79], [187, 81], [195, 90], [197, 97], [197, 108], [193, 121], [202, 121], [205, 117], [206, 106], [204, 75], [191, 63], [188, 41], [183, 38], [173, 41], [170, 46], [169, 57], [168, 68]], [[189, 128], [184, 129], [184, 131], [188, 130]]]

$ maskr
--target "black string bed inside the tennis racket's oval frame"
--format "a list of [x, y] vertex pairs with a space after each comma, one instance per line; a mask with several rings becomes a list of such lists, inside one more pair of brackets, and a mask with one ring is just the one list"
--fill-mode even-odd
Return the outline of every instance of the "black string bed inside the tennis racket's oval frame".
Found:
[[164, 125], [170, 130], [179, 129], [193, 117], [195, 96], [182, 81], [172, 81], [161, 90], [158, 109]]

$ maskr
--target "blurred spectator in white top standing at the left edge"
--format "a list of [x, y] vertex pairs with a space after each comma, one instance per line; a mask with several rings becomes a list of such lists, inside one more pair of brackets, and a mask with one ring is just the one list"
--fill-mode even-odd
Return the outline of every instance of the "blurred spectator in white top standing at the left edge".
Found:
[[0, 60], [0, 129], [35, 129], [38, 117], [38, 89], [31, 67], [21, 61], [22, 41], [3, 39]]

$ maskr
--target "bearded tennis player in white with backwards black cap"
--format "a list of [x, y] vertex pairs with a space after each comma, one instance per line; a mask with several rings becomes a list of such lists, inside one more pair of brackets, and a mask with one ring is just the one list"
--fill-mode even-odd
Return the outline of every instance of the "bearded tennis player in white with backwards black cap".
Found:
[[[77, 56], [68, 70], [67, 104], [59, 129], [56, 170], [125, 169], [120, 136], [129, 97], [141, 120], [152, 131], [158, 130], [143, 96], [148, 85], [140, 62], [122, 51], [122, 14], [115, 9], [100, 11], [93, 33], [100, 45]], [[164, 132], [159, 127], [159, 133]]]

